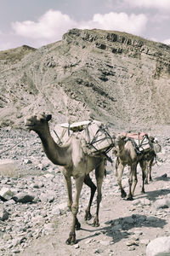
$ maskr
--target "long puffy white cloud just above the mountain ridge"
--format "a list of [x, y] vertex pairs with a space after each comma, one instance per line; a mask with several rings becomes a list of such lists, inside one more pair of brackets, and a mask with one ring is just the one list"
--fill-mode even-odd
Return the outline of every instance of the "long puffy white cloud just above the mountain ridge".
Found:
[[[69, 15], [63, 15], [60, 11], [48, 10], [37, 22], [25, 20], [13, 22], [12, 28], [15, 36], [27, 38], [31, 46], [40, 47], [58, 41], [62, 35], [73, 27], [77, 28], [99, 28], [105, 30], [117, 30], [130, 32], [136, 35], [144, 31], [147, 17], [140, 15], [127, 15], [126, 13], [108, 13], [105, 15], [95, 14], [92, 20], [72, 20]], [[26, 41], [26, 40], [25, 40]]]

